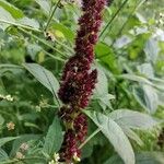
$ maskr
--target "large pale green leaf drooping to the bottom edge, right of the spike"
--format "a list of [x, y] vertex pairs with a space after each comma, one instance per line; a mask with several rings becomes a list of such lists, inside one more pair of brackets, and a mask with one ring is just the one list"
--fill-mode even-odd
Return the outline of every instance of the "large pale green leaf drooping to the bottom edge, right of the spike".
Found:
[[101, 129], [105, 137], [114, 145], [117, 153], [126, 164], [134, 164], [132, 147], [122, 129], [109, 117], [95, 112], [84, 112]]

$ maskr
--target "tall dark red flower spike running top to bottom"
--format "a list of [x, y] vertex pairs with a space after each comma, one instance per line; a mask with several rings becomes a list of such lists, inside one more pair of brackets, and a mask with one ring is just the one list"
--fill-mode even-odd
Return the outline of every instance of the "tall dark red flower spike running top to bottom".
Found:
[[91, 65], [105, 4], [106, 0], [82, 0], [83, 15], [79, 20], [75, 55], [66, 63], [61, 79], [58, 95], [65, 106], [61, 107], [59, 116], [66, 125], [66, 133], [60, 159], [67, 163], [80, 160], [79, 145], [87, 132], [86, 117], [81, 109], [89, 105], [97, 81], [97, 71], [92, 70]]

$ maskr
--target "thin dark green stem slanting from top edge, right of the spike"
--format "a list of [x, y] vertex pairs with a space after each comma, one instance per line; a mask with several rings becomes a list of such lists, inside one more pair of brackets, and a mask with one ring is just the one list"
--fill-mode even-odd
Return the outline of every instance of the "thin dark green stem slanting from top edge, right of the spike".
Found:
[[114, 16], [109, 20], [109, 22], [106, 24], [106, 26], [104, 27], [104, 30], [99, 34], [99, 38], [103, 36], [103, 34], [105, 33], [105, 31], [109, 27], [109, 25], [113, 23], [113, 21], [115, 20], [115, 17], [118, 15], [118, 13], [121, 11], [121, 9], [126, 5], [127, 2], [128, 2], [128, 0], [125, 0], [122, 2], [122, 4], [119, 7], [119, 9], [114, 14]]

